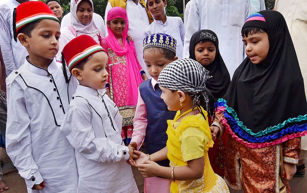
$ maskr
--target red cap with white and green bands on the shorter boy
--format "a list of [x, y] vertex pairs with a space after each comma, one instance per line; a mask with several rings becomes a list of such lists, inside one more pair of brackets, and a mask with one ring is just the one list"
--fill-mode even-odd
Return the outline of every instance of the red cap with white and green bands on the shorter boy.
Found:
[[73, 67], [81, 60], [99, 51], [104, 49], [91, 36], [81, 35], [64, 46], [63, 56], [69, 71], [72, 72]]

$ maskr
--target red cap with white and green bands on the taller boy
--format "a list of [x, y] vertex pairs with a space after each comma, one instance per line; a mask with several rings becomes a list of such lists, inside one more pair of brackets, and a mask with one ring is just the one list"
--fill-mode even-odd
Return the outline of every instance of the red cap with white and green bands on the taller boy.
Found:
[[29, 1], [18, 5], [13, 13], [14, 40], [17, 41], [18, 31], [22, 27], [41, 19], [52, 19], [60, 23], [52, 10], [41, 1]]

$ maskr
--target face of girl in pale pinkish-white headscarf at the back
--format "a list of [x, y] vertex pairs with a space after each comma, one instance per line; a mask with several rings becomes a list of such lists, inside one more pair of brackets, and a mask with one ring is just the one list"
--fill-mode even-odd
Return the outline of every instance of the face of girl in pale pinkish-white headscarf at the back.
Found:
[[84, 25], [87, 25], [92, 20], [93, 9], [89, 1], [83, 0], [79, 3], [77, 8], [77, 18]]

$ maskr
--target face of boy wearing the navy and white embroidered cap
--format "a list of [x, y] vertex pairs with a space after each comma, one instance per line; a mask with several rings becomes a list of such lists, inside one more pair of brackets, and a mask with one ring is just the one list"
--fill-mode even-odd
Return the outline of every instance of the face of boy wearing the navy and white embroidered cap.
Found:
[[177, 59], [177, 57], [175, 57], [173, 60], [167, 59], [163, 53], [161, 53], [157, 48], [153, 47], [146, 48], [143, 54], [147, 71], [156, 81], [158, 80], [158, 76], [162, 69], [170, 62]]

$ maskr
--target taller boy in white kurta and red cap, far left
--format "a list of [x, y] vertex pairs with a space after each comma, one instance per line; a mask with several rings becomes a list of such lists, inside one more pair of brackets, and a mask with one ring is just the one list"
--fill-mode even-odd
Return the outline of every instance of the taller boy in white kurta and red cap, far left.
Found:
[[45, 3], [35, 1], [19, 5], [14, 21], [29, 56], [6, 79], [6, 152], [28, 192], [76, 192], [74, 149], [59, 127], [77, 82], [66, 83], [54, 59], [60, 21]]

